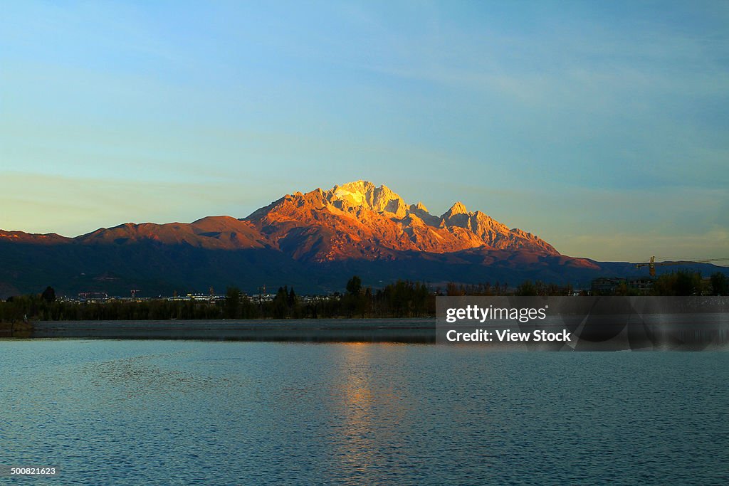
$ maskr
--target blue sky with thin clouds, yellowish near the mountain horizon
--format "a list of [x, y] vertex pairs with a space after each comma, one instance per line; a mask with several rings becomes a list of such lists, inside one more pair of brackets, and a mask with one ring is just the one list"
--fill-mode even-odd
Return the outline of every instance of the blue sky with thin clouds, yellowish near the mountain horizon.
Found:
[[365, 179], [604, 261], [729, 257], [725, 1], [0, 0], [0, 228]]

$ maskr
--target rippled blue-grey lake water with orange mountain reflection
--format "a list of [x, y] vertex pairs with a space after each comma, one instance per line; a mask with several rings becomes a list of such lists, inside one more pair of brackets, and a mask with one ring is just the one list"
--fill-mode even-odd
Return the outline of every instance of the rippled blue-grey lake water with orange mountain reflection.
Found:
[[729, 353], [28, 340], [0, 373], [0, 465], [44, 484], [729, 477]]

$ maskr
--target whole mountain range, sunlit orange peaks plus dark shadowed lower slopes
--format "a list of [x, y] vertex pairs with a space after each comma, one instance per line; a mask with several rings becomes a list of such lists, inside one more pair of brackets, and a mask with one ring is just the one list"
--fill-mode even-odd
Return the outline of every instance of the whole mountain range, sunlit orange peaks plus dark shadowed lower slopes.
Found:
[[397, 278], [432, 286], [527, 278], [581, 286], [599, 275], [638, 274], [628, 263], [562, 255], [460, 202], [433, 215], [369, 181], [295, 192], [242, 219], [127, 223], [76, 238], [0, 230], [0, 297], [47, 285], [67, 295], [170, 295], [228, 285], [320, 293], [342, 289], [351, 275], [378, 287]]

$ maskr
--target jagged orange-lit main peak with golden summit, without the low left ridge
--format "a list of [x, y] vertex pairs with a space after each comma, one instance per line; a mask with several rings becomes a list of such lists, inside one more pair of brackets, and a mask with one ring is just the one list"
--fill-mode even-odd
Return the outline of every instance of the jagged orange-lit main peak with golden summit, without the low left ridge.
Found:
[[481, 211], [469, 212], [460, 201], [434, 216], [422, 202], [408, 204], [389, 187], [362, 180], [286, 195], [243, 221], [266, 235], [273, 248], [320, 261], [482, 247], [559, 254], [530, 233], [510, 230]]

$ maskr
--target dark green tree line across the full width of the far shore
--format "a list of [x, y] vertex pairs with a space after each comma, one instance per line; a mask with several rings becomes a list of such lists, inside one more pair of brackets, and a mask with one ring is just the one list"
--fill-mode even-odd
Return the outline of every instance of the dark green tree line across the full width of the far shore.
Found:
[[[611, 295], [638, 295], [621, 283]], [[573, 295], [572, 286], [541, 281], [524, 281], [515, 289], [506, 283], [461, 285], [448, 283], [445, 289], [429, 289], [423, 282], [390, 283], [383, 289], [364, 287], [359, 276], [346, 283], [346, 291], [330, 296], [302, 299], [295, 290], [283, 286], [271, 300], [249, 297], [230, 286], [225, 299], [217, 302], [196, 300], [114, 300], [70, 302], [58, 300], [52, 287], [41, 294], [10, 297], [0, 301], [0, 321], [166, 321], [169, 319], [286, 319], [286, 318], [405, 318], [435, 315], [437, 296], [559, 296]], [[587, 294], [582, 291], [581, 294]], [[714, 273], [707, 287], [698, 272], [679, 271], [660, 275], [650, 295], [729, 295], [729, 279]]]

